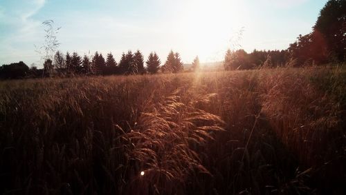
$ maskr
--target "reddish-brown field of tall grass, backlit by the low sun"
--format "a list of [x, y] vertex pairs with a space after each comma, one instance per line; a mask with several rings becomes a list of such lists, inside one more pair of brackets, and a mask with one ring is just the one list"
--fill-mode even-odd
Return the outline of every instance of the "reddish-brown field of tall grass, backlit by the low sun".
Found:
[[0, 194], [346, 194], [345, 68], [0, 82]]

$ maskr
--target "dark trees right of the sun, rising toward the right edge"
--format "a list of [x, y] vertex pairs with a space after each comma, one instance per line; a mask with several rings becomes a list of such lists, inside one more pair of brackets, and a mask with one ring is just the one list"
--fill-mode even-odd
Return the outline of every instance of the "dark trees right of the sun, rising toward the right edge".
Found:
[[346, 60], [346, 0], [329, 0], [309, 34], [300, 34], [286, 50], [228, 50], [224, 57], [226, 70], [267, 68], [291, 65], [343, 63]]

